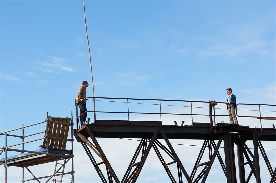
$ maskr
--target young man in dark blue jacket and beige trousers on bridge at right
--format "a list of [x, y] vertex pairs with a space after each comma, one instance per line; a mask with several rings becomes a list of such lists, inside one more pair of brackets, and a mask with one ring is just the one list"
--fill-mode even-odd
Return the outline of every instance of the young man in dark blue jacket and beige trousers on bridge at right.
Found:
[[226, 92], [229, 95], [229, 97], [227, 98], [227, 103], [225, 103], [225, 105], [227, 105], [230, 123], [234, 123], [235, 121], [235, 124], [238, 124], [238, 119], [236, 116], [236, 105], [237, 105], [236, 96], [232, 94], [231, 88], [227, 88]]

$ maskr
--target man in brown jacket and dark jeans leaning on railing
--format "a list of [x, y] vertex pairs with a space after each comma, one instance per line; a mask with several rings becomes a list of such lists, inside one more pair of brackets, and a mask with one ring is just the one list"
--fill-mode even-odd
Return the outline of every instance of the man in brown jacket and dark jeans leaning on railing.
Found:
[[[79, 114], [82, 114], [84, 112], [87, 111], [86, 108], [86, 99], [83, 100], [84, 98], [86, 98], [86, 88], [88, 87], [88, 82], [87, 81], [83, 81], [83, 86], [81, 86], [79, 88], [78, 94], [77, 94], [77, 98], [76, 98], [76, 105], [79, 105]], [[84, 113], [83, 115], [81, 115], [80, 121], [81, 121], [81, 127], [83, 127], [84, 125], [84, 121], [86, 121], [86, 116], [87, 113]]]

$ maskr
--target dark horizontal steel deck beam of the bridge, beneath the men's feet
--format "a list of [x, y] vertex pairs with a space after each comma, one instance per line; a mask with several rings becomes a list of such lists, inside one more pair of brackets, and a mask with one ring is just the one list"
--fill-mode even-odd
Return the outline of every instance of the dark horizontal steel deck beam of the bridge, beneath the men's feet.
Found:
[[[209, 123], [193, 123], [191, 125], [161, 125], [158, 121], [116, 121], [96, 120], [95, 123], [87, 124], [78, 130], [83, 136], [89, 137], [89, 130], [95, 137], [105, 138], [145, 138], [151, 137], [152, 133], [161, 129], [169, 139], [219, 139], [221, 133], [230, 131], [231, 134], [242, 133], [246, 140], [252, 140], [252, 132], [260, 128], [249, 128], [238, 124], [217, 124], [216, 131], [210, 131]], [[76, 134], [76, 129], [74, 129]], [[77, 141], [81, 140], [75, 135]], [[162, 138], [159, 134], [157, 138]], [[276, 140], [276, 129], [262, 128], [260, 140]]]

